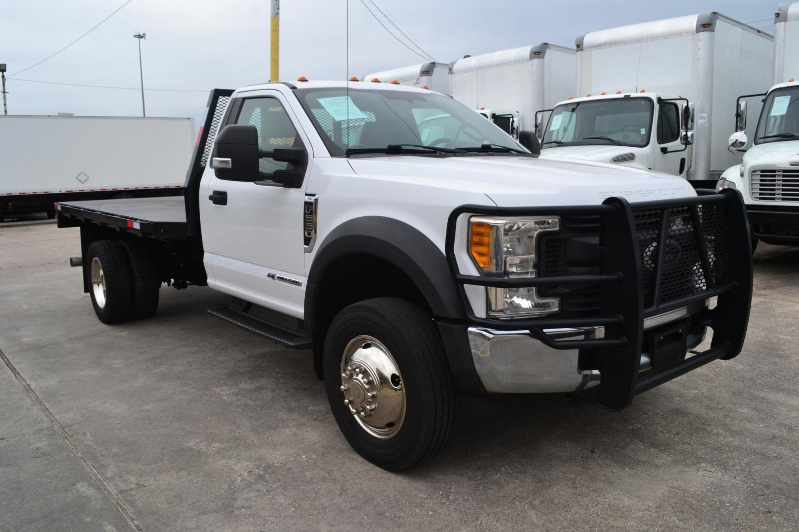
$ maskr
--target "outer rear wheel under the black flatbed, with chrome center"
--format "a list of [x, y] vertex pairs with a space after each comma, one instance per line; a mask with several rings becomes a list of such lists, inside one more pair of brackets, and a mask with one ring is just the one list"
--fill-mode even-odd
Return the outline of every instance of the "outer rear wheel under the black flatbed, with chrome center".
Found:
[[103, 323], [119, 323], [130, 315], [130, 267], [117, 242], [98, 240], [86, 252], [86, 277], [94, 313]]

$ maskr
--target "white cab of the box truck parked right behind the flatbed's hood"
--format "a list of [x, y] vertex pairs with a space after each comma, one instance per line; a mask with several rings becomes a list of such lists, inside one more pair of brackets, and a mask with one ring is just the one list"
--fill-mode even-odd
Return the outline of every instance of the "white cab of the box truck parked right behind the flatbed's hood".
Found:
[[686, 176], [694, 104], [655, 93], [586, 96], [559, 103], [535, 132], [548, 156], [587, 159]]

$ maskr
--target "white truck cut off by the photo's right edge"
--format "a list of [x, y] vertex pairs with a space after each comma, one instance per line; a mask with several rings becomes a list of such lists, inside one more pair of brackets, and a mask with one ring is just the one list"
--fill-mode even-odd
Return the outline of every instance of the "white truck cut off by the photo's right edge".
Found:
[[[774, 20], [774, 85], [738, 98], [729, 148], [742, 154], [741, 164], [729, 167], [717, 185], [741, 192], [753, 248], [758, 240], [799, 245], [799, 2], [777, 6]], [[747, 135], [746, 106], [753, 100], [760, 118], [751, 120], [754, 134]]]

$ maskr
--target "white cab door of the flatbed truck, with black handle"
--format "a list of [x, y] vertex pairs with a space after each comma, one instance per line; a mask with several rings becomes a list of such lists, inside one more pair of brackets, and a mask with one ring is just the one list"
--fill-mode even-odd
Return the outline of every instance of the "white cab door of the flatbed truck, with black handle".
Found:
[[[296, 127], [296, 117], [279, 91], [231, 102], [227, 124], [248, 124], [258, 132], [258, 148], [304, 148], [305, 167], [293, 167], [307, 177], [312, 164], [308, 139]], [[201, 229], [209, 285], [226, 294], [302, 317], [305, 286], [303, 246], [303, 179], [300, 188], [283, 187], [268, 179], [289, 163], [261, 157], [260, 175], [252, 183], [218, 179], [206, 169], [201, 188]], [[258, 176], [253, 176], [257, 179]], [[225, 195], [225, 202], [218, 201]], [[217, 196], [213, 201], [212, 195]], [[210, 266], [210, 268], [209, 268]]]

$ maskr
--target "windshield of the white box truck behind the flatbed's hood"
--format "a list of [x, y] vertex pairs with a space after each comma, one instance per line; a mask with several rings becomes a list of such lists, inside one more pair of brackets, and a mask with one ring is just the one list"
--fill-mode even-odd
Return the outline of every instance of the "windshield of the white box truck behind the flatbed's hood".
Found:
[[577, 101], [555, 107], [544, 132], [542, 148], [649, 144], [654, 105], [649, 98]]

